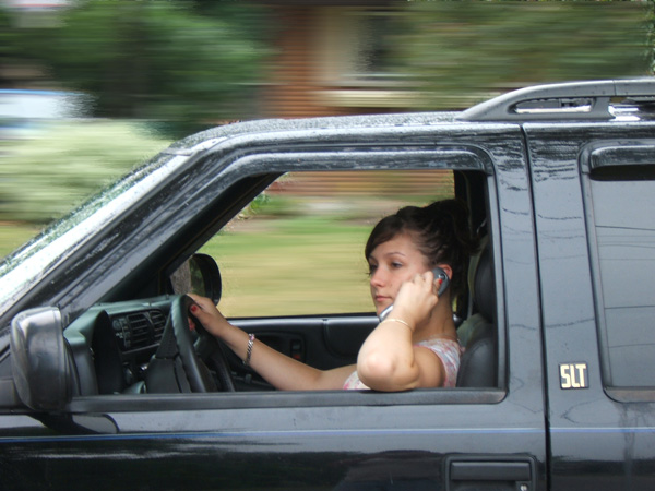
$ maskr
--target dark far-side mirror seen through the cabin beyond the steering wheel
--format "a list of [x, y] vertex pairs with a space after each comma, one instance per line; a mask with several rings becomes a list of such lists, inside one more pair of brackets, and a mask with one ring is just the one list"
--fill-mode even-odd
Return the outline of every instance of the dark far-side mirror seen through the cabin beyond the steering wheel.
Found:
[[221, 300], [223, 283], [214, 258], [193, 254], [170, 276], [176, 295], [196, 294], [211, 298], [215, 304]]

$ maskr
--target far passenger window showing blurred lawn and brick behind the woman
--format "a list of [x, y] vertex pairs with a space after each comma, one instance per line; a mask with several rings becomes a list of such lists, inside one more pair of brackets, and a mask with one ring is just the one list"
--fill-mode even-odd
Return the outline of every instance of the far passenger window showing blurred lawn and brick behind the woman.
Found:
[[364, 247], [374, 224], [453, 195], [449, 170], [288, 173], [200, 252], [218, 263], [227, 316], [372, 312]]

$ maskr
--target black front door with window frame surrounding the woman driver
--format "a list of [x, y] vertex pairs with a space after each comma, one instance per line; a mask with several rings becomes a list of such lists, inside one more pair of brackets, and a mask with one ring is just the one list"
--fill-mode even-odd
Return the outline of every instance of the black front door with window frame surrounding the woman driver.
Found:
[[[170, 185], [177, 192], [167, 191], [169, 200], [154, 195], [120, 247], [103, 249], [94, 266], [70, 284], [53, 309], [63, 324], [81, 319], [98, 300], [110, 303], [144, 291], [157, 276], [153, 263], [206, 241], [236, 213], [230, 211], [262, 189], [255, 183], [298, 170], [454, 169], [483, 176], [486, 196], [478, 199], [487, 206], [495, 267], [497, 386], [391, 394], [90, 394], [73, 396], [55, 411], [14, 406], [0, 416], [3, 486], [546, 489], [540, 320], [525, 160], [521, 132], [510, 124], [478, 128], [475, 140], [461, 125], [445, 124], [298, 128], [215, 142], [176, 175]], [[176, 262], [168, 266], [162, 271]], [[109, 292], [105, 297], [98, 294], [103, 289]], [[366, 312], [320, 319], [238, 322], [282, 339], [306, 327], [313, 330], [310, 336], [325, 338], [334, 330], [376, 322]], [[284, 331], [287, 323], [298, 330]]]

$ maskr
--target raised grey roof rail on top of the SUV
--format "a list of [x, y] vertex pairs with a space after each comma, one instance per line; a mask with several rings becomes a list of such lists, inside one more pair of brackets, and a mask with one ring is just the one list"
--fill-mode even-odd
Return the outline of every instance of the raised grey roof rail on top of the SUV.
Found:
[[463, 111], [464, 121], [615, 119], [610, 98], [655, 99], [655, 77], [535, 85], [495, 97]]

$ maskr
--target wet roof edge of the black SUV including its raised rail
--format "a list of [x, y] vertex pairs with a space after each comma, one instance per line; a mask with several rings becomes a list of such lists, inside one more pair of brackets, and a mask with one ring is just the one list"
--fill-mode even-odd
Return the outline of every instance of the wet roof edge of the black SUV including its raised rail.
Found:
[[464, 111], [403, 112], [302, 119], [265, 119], [216, 127], [174, 143], [168, 153], [189, 155], [246, 133], [456, 123], [610, 122], [655, 119], [655, 77], [536, 85], [491, 98]]

